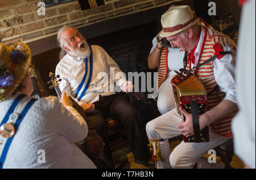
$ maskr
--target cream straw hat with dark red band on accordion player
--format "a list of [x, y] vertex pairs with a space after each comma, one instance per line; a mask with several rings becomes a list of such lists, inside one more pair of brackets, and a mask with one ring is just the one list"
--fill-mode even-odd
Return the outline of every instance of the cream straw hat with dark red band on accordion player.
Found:
[[189, 6], [175, 6], [164, 12], [161, 18], [163, 30], [160, 32], [161, 37], [168, 37], [187, 30], [199, 22], [195, 18]]

